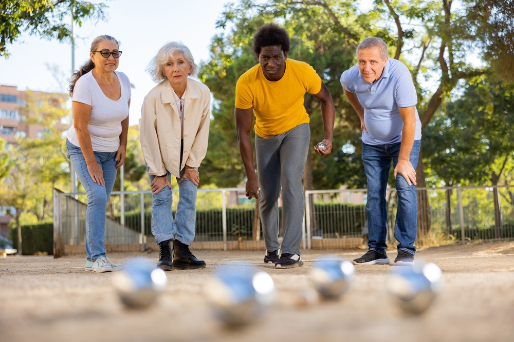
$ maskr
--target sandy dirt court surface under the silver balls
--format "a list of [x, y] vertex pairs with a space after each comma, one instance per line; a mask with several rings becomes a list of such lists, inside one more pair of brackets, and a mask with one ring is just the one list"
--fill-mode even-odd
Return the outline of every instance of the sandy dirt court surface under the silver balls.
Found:
[[[443, 291], [415, 316], [400, 311], [384, 287], [391, 265], [356, 266], [337, 301], [298, 305], [310, 288], [309, 269], [326, 254], [352, 260], [365, 250], [302, 250], [304, 265], [274, 269], [259, 251], [193, 253], [201, 270], [167, 272], [168, 285], [148, 309], [126, 309], [112, 285], [114, 272], [83, 270], [85, 256], [0, 257], [0, 340], [24, 341], [512, 341], [514, 242], [418, 249], [416, 259], [438, 265]], [[158, 252], [112, 253], [157, 261]], [[396, 251], [389, 248], [394, 260]], [[227, 329], [213, 315], [205, 288], [216, 266], [239, 259], [268, 272], [272, 307], [258, 321]]]

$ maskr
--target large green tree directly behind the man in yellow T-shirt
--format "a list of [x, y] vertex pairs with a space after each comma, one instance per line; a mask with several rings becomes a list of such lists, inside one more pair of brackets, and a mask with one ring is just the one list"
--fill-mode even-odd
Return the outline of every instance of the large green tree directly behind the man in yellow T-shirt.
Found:
[[[291, 37], [288, 58], [312, 65], [331, 91], [336, 108], [340, 110], [336, 116], [333, 141], [335, 150], [347, 142], [348, 135], [357, 140], [360, 134], [356, 130], [356, 115], [347, 115], [351, 113], [348, 111], [351, 107], [343, 100], [339, 84], [341, 68], [347, 68], [352, 63], [355, 46], [340, 39], [339, 31], [334, 30], [331, 18], [324, 15], [322, 9], [284, 6], [281, 4], [283, 2], [270, 3], [271, 6], [260, 6], [245, 0], [237, 6], [227, 6], [217, 24], [227, 28], [229, 33], [213, 38], [211, 60], [200, 69], [200, 77], [210, 87], [215, 98], [209, 143], [210, 146], [214, 142], [215, 146], [223, 147], [210, 148], [206, 157], [210, 173], [217, 175], [210, 183], [218, 186], [235, 186], [244, 181], [233, 117], [235, 84], [241, 74], [258, 63], [252, 51], [252, 39], [256, 29], [265, 23], [275, 21], [283, 24]], [[353, 13], [356, 11], [351, 6], [347, 6], [347, 9]], [[352, 18], [348, 18], [348, 22]], [[356, 30], [364, 32], [369, 25], [364, 26], [363, 23], [365, 20], [360, 19], [352, 25]], [[229, 27], [233, 28], [228, 30]], [[320, 104], [307, 94], [304, 105], [310, 116], [311, 146], [314, 146], [323, 138]], [[306, 189], [323, 186], [328, 179], [334, 179], [328, 172], [334, 171], [328, 159], [319, 157], [311, 150], [304, 172]], [[234, 167], [227, 170], [226, 165]], [[320, 170], [317, 177], [313, 177], [312, 170]], [[339, 179], [340, 184], [345, 183]], [[331, 185], [334, 186], [334, 182]]]

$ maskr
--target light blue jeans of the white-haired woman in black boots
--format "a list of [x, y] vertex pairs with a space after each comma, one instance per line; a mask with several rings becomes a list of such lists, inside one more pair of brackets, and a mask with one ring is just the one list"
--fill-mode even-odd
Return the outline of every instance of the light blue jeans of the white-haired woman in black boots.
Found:
[[[148, 171], [148, 167], [146, 168]], [[180, 177], [185, 169], [180, 171]], [[155, 176], [149, 174], [150, 183]], [[167, 171], [166, 177], [171, 183], [171, 174]], [[180, 178], [176, 177], [177, 183]], [[191, 246], [195, 236], [196, 227], [196, 192], [198, 188], [191, 180], [184, 178], [178, 183], [178, 204], [173, 219], [171, 205], [173, 203], [172, 189], [164, 187], [158, 194], [152, 193], [152, 234], [155, 243], [177, 239], [182, 244]]]

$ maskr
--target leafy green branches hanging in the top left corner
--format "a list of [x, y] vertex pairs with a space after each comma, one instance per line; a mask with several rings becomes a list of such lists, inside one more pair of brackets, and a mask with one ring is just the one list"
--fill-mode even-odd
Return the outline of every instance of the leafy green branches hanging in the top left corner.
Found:
[[104, 19], [105, 4], [78, 0], [3, 0], [0, 2], [0, 56], [8, 57], [8, 45], [22, 32], [47, 39], [72, 38], [69, 20], [79, 26], [84, 19]]

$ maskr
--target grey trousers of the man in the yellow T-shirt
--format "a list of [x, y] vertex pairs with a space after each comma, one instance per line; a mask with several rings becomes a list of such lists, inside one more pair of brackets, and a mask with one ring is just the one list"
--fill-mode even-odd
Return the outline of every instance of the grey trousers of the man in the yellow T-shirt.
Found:
[[304, 212], [303, 169], [309, 143], [309, 124], [299, 125], [271, 138], [255, 135], [257, 177], [261, 187], [259, 211], [268, 251], [281, 248], [279, 196], [282, 187], [282, 253], [300, 254]]

